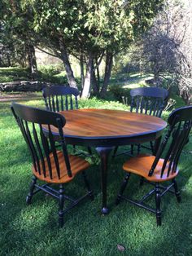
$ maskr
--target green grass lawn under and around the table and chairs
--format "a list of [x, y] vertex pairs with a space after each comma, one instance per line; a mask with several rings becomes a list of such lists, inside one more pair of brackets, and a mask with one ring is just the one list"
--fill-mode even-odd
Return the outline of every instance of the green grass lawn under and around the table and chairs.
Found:
[[[22, 101], [43, 107], [42, 100]], [[81, 108], [125, 109], [123, 104], [97, 99], [80, 101]], [[156, 227], [155, 215], [122, 202], [115, 206], [117, 192], [123, 179], [122, 164], [126, 157], [110, 160], [108, 171], [108, 205], [110, 214], [100, 214], [102, 194], [99, 166], [87, 170], [94, 190], [94, 201], [85, 201], [65, 217], [59, 229], [58, 204], [55, 199], [38, 193], [32, 205], [25, 204], [31, 181], [31, 160], [20, 130], [10, 111], [10, 103], [0, 103], [0, 255], [191, 255], [192, 251], [192, 179], [191, 145], [181, 156], [178, 176], [182, 202], [174, 196], [163, 198], [163, 223]], [[167, 113], [168, 115], [168, 113]], [[66, 186], [72, 194], [83, 193], [81, 176]], [[139, 188], [133, 176], [126, 193], [142, 196], [148, 185]], [[117, 245], [123, 245], [120, 252]]]

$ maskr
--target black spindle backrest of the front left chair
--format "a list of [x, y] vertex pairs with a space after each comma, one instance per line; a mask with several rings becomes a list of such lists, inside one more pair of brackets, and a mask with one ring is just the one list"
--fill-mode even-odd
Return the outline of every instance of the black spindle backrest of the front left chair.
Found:
[[[72, 170], [62, 129], [66, 123], [65, 118], [59, 113], [16, 103], [11, 104], [11, 110], [18, 126], [20, 126], [24, 139], [28, 144], [34, 170], [40, 175], [43, 174], [45, 178], [49, 176], [50, 179], [52, 179], [51, 166], [54, 165], [57, 170], [58, 179], [60, 179], [62, 170], [59, 169], [59, 159], [55, 148], [55, 139], [51, 132], [51, 126], [55, 126], [59, 130], [59, 142], [61, 143], [68, 176], [72, 177]], [[47, 125], [46, 133], [45, 130], [43, 130], [42, 125]]]

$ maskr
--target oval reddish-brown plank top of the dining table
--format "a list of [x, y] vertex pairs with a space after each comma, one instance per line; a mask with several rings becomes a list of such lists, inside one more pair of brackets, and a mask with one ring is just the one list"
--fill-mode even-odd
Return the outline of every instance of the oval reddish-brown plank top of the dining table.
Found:
[[[64, 135], [76, 139], [131, 139], [149, 134], [155, 139], [166, 127], [166, 122], [159, 117], [120, 110], [89, 108], [60, 113], [67, 121]], [[51, 130], [57, 133], [55, 127]]]

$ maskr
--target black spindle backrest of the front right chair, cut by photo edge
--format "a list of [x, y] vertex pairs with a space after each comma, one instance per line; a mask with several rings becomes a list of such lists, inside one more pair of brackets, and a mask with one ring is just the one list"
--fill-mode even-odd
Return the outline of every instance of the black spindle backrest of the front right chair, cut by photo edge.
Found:
[[151, 166], [149, 176], [154, 173], [159, 158], [162, 158], [163, 154], [164, 164], [161, 170], [161, 177], [164, 175], [164, 170], [166, 169], [168, 170], [167, 176], [170, 173], [177, 171], [177, 164], [179, 157], [181, 156], [181, 151], [189, 141], [192, 126], [192, 106], [174, 110], [168, 117], [168, 125], [168, 133], [160, 144], [155, 161]]

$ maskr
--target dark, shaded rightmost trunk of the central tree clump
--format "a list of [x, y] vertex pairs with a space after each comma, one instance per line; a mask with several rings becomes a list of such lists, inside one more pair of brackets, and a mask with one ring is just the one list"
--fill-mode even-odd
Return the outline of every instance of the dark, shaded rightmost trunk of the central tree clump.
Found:
[[102, 98], [106, 95], [107, 86], [109, 84], [109, 80], [110, 80], [110, 77], [111, 77], [112, 59], [113, 59], [113, 54], [110, 51], [107, 51], [106, 66], [105, 66], [105, 77], [104, 77], [104, 81], [103, 81], [102, 90], [100, 92], [100, 95], [101, 95]]

